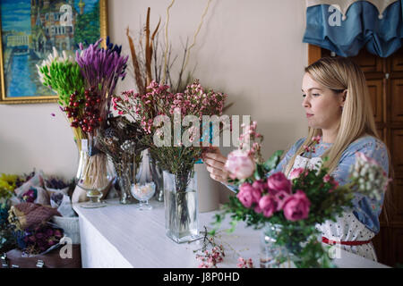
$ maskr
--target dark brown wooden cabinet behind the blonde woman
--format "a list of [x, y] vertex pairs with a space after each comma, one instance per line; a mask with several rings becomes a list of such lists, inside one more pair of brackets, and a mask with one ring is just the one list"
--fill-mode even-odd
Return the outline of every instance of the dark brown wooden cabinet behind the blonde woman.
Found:
[[[308, 61], [313, 63], [329, 50], [308, 46]], [[380, 217], [381, 231], [373, 244], [382, 264], [403, 265], [403, 48], [388, 58], [362, 49], [351, 57], [364, 71], [376, 127], [390, 150], [393, 181], [388, 189]]]

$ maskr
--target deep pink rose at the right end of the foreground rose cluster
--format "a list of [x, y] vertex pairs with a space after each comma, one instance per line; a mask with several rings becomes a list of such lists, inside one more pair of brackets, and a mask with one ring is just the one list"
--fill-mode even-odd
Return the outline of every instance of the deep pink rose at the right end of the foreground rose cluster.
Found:
[[283, 206], [284, 216], [288, 221], [296, 222], [308, 217], [311, 202], [305, 193], [298, 189], [296, 193], [286, 199]]

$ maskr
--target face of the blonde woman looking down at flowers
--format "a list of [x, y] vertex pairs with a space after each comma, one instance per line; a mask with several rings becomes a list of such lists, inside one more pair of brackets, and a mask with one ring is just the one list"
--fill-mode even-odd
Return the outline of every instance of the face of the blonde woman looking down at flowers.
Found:
[[302, 105], [308, 125], [314, 129], [336, 129], [341, 118], [341, 106], [344, 105], [343, 93], [323, 87], [307, 72], [304, 74], [302, 91]]

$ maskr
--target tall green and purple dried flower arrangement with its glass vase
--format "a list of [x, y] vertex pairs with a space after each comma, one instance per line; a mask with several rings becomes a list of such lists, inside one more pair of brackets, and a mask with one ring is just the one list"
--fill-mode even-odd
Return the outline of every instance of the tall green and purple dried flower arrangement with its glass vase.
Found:
[[58, 94], [58, 103], [73, 128], [79, 150], [81, 139], [88, 139], [89, 158], [78, 175], [79, 183], [84, 189], [97, 190], [104, 189], [109, 179], [107, 156], [99, 153], [95, 139], [106, 127], [110, 100], [117, 81], [124, 80], [128, 60], [128, 56], [121, 55], [122, 46], [107, 38], [103, 48], [99, 47], [101, 42], [102, 38], [85, 48], [80, 43], [75, 59], [65, 52], [60, 57], [54, 49], [54, 54], [38, 66], [43, 84]]

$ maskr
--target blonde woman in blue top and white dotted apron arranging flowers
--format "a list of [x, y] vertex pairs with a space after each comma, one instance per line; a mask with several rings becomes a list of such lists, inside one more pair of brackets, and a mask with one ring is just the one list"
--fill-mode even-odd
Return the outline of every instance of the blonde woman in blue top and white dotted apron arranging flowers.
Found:
[[[389, 174], [389, 151], [377, 134], [364, 73], [356, 63], [341, 57], [322, 58], [305, 68], [302, 91], [308, 134], [296, 141], [270, 174], [281, 171], [288, 175], [306, 165], [314, 168], [328, 156], [325, 166], [339, 185], [344, 185], [349, 168], [356, 161], [356, 152], [372, 157]], [[313, 153], [306, 154], [305, 147], [311, 146], [313, 137], [318, 135], [320, 143]], [[227, 158], [219, 148], [206, 153], [203, 159], [210, 177], [227, 183]], [[371, 240], [380, 231], [382, 204], [383, 197], [378, 201], [357, 194], [354, 207], [346, 209], [336, 223], [317, 225], [323, 242], [337, 241], [337, 246], [376, 261]]]

